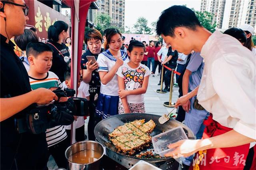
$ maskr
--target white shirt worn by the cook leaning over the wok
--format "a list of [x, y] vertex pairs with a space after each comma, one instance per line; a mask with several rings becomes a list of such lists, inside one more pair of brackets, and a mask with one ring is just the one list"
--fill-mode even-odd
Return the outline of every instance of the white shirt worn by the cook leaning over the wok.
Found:
[[203, 45], [205, 66], [198, 101], [213, 119], [256, 139], [255, 56], [235, 38], [216, 30]]

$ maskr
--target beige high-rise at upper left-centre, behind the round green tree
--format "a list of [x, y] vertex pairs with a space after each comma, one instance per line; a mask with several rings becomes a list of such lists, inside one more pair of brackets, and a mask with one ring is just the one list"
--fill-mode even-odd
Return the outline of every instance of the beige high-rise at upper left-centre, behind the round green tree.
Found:
[[124, 28], [125, 0], [97, 0], [97, 3], [100, 10], [94, 11], [95, 18], [99, 14], [107, 14], [112, 18], [112, 26]]

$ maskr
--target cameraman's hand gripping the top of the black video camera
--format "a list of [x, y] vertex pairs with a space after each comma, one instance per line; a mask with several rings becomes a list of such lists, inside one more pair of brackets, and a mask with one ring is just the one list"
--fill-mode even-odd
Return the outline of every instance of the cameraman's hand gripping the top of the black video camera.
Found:
[[58, 97], [55, 95], [55, 93], [49, 89], [38, 88], [34, 90], [34, 92], [37, 94], [36, 95], [37, 98], [35, 102], [37, 104], [46, 105], [53, 100], [56, 100], [56, 101], [58, 100]]

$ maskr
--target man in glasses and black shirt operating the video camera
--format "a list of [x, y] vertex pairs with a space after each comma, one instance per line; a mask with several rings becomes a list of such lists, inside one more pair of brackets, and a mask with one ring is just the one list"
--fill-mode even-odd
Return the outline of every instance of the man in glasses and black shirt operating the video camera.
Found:
[[58, 97], [50, 90], [31, 91], [28, 73], [14, 53], [13, 36], [24, 33], [28, 6], [23, 0], [0, 0], [0, 169], [46, 169], [45, 133], [19, 133], [18, 128], [35, 103]]

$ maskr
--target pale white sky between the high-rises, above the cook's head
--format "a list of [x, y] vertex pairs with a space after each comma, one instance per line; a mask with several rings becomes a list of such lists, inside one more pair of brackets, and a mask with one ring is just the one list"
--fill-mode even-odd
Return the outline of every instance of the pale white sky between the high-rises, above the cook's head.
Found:
[[184, 4], [188, 8], [200, 10], [201, 0], [125, 0], [124, 24], [132, 28], [138, 17], [143, 16], [147, 18], [150, 26], [166, 8]]

